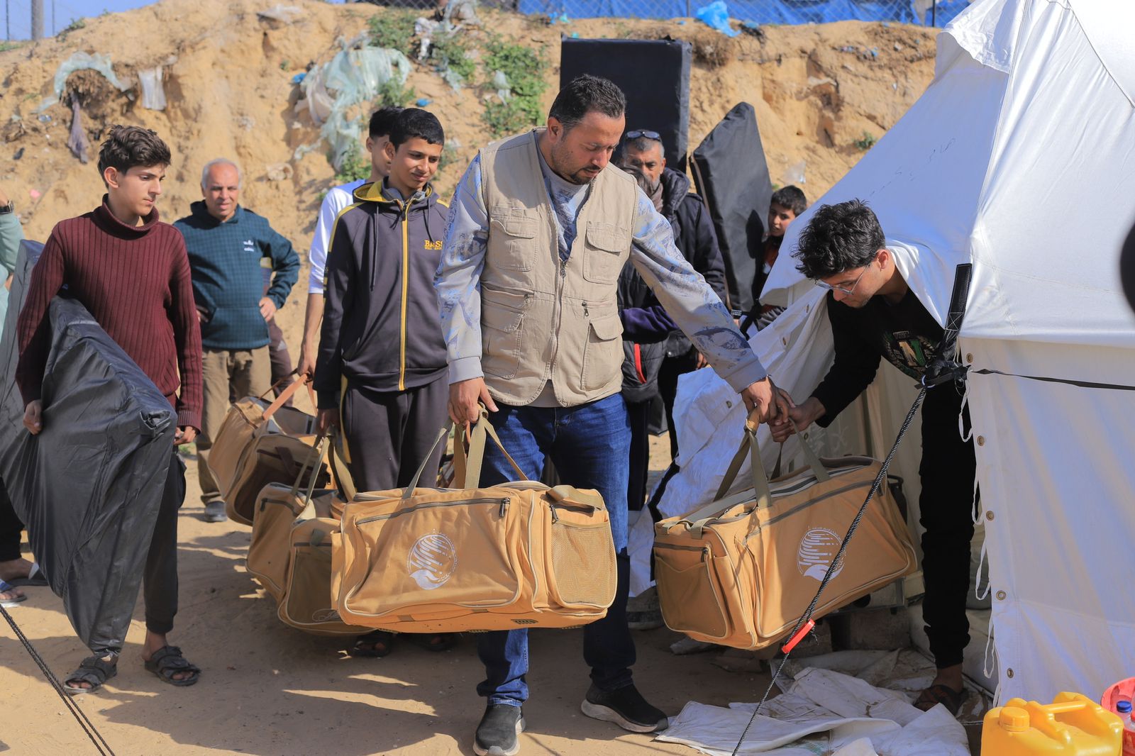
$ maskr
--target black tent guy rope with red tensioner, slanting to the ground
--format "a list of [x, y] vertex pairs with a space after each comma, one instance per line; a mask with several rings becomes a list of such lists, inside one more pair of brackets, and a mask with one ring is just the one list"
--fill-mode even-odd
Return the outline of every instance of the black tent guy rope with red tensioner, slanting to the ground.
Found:
[[835, 568], [842, 564], [843, 554], [847, 552], [848, 544], [851, 541], [851, 536], [855, 535], [856, 529], [859, 527], [859, 522], [863, 520], [863, 515], [867, 512], [867, 505], [871, 504], [871, 499], [875, 497], [875, 494], [878, 492], [878, 487], [884, 480], [886, 480], [886, 471], [891, 467], [891, 462], [894, 460], [896, 452], [899, 451], [899, 444], [902, 442], [902, 437], [906, 436], [907, 430], [910, 429], [910, 423], [914, 422], [915, 413], [918, 411], [918, 408], [922, 406], [923, 400], [926, 398], [926, 392], [935, 386], [941, 386], [943, 384], [950, 385], [966, 379], [967, 368], [957, 360], [957, 345], [958, 333], [961, 330], [961, 320], [966, 314], [966, 301], [969, 299], [969, 283], [972, 278], [973, 266], [970, 263], [959, 264], [953, 277], [953, 293], [950, 296], [950, 311], [945, 317], [945, 327], [942, 330], [942, 341], [939, 343], [938, 359], [926, 368], [926, 373], [923, 376], [918, 395], [915, 397], [914, 404], [910, 405], [910, 411], [907, 412], [907, 417], [902, 421], [902, 426], [899, 428], [899, 435], [896, 436], [894, 443], [891, 445], [891, 451], [886, 454], [886, 459], [884, 459], [883, 463], [880, 465], [878, 473], [875, 476], [875, 480], [871, 484], [871, 489], [867, 492], [867, 496], [864, 498], [863, 504], [859, 505], [859, 511], [856, 513], [855, 520], [851, 521], [851, 526], [848, 528], [847, 535], [843, 536], [843, 540], [840, 543], [840, 551], [835, 553], [835, 557], [832, 560], [831, 564], [827, 565], [827, 571], [824, 572], [824, 579], [819, 581], [819, 588], [816, 590], [816, 595], [812, 597], [812, 603], [808, 604], [808, 608], [805, 610], [804, 615], [800, 616], [796, 627], [792, 628], [792, 632], [789, 633], [789, 638], [792, 640], [784, 646], [784, 656], [776, 666], [776, 672], [773, 673], [773, 679], [770, 680], [768, 688], [765, 689], [765, 695], [762, 696], [757, 707], [753, 709], [753, 716], [749, 717], [749, 722], [745, 725], [745, 730], [741, 731], [741, 737], [737, 740], [737, 746], [733, 747], [732, 756], [737, 756], [740, 751], [746, 736], [749, 734], [749, 729], [756, 721], [757, 714], [760, 713], [765, 702], [768, 700], [768, 696], [772, 695], [773, 687], [776, 686], [776, 681], [780, 679], [781, 672], [784, 670], [784, 665], [788, 664], [789, 656], [792, 655], [792, 650], [799, 641], [797, 636], [801, 635], [801, 629], [812, 621], [812, 613], [816, 611], [819, 597], [823, 595], [824, 589], [827, 588], [827, 583], [831, 581], [832, 574], [835, 572]]

